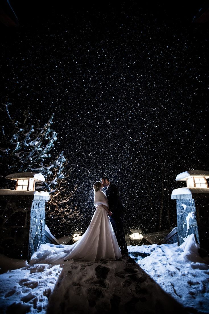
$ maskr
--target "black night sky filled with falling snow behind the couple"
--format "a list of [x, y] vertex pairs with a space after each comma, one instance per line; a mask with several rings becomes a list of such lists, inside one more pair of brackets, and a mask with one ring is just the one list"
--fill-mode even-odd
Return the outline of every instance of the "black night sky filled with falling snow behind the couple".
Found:
[[209, 166], [208, 23], [192, 22], [201, 4], [28, 6], [13, 5], [19, 27], [1, 26], [1, 101], [18, 119], [28, 106], [43, 123], [55, 113], [54, 152], [72, 167], [81, 227], [104, 174], [127, 230], [158, 225], [162, 199], [162, 228], [174, 227], [176, 175]]

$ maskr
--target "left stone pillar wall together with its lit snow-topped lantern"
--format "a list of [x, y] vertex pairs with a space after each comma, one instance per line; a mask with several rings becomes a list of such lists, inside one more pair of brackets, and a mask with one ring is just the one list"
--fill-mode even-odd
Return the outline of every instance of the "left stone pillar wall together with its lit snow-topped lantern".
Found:
[[0, 252], [8, 257], [27, 259], [45, 243], [45, 202], [48, 192], [35, 191], [40, 173], [13, 173], [6, 179], [16, 181], [15, 190], [0, 190]]

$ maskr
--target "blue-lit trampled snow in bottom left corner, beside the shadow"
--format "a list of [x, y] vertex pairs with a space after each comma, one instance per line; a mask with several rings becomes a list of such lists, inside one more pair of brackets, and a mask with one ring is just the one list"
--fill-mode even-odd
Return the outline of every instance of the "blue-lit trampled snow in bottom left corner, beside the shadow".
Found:
[[37, 264], [1, 274], [1, 313], [46, 313], [61, 271], [59, 265]]

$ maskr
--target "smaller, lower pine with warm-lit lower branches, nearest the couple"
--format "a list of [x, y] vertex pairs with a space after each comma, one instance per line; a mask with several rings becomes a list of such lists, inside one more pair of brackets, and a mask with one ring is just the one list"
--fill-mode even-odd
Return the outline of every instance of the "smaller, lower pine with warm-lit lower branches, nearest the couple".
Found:
[[71, 191], [70, 169], [63, 173], [66, 168], [67, 160], [62, 151], [53, 163], [45, 166], [41, 162], [38, 168], [31, 169], [45, 176], [46, 186], [45, 182], [37, 182], [36, 190], [46, 191], [47, 187], [49, 191], [50, 200], [46, 203], [46, 225], [53, 230], [57, 238], [70, 235], [73, 230], [78, 229], [79, 219], [83, 216], [78, 211], [77, 205], [73, 208], [72, 198], [78, 185], [75, 185]]

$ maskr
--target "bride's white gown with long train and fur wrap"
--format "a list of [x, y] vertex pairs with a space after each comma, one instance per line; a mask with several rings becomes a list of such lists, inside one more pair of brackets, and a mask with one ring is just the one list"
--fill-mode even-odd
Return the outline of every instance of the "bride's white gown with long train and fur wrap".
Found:
[[58, 260], [99, 261], [121, 258], [115, 232], [103, 205], [109, 208], [108, 199], [104, 192], [98, 191], [94, 195], [94, 206], [98, 207], [81, 239], [72, 245], [64, 246], [64, 250], [63, 246], [62, 248], [53, 246], [53, 252], [45, 251], [42, 255], [45, 262], [52, 263]]

